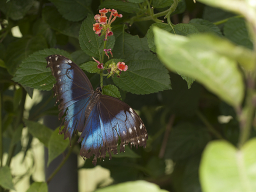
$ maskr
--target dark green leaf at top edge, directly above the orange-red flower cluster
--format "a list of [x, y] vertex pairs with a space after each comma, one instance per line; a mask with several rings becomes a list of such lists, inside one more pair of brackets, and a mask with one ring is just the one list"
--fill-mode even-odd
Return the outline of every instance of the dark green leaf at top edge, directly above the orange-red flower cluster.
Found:
[[119, 13], [121, 13], [120, 11], [123, 11], [126, 13], [136, 13], [140, 11], [139, 6], [135, 3], [116, 1], [116, 0], [103, 1], [103, 3], [100, 4], [100, 9], [103, 9], [103, 8], [117, 9]]

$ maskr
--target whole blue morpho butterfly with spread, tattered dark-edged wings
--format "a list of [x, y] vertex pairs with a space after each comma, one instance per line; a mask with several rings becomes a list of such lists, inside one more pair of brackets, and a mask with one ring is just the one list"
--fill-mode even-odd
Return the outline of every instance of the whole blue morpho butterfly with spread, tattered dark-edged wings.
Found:
[[125, 144], [146, 147], [147, 130], [137, 113], [126, 103], [101, 94], [101, 89], [93, 90], [85, 73], [70, 59], [61, 55], [46, 58], [47, 67], [52, 70], [57, 83], [55, 96], [59, 102], [59, 119], [64, 123], [64, 138], [71, 139], [75, 131], [82, 132], [80, 155], [89, 158], [105, 158], [108, 151], [117, 154]]

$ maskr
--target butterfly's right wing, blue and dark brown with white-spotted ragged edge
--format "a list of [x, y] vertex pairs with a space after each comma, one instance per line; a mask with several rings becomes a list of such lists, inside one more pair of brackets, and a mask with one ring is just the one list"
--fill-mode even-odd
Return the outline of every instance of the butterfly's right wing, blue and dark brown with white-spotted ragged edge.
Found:
[[126, 103], [110, 96], [100, 95], [100, 99], [87, 119], [80, 140], [80, 155], [86, 158], [93, 154], [93, 163], [98, 157], [105, 158], [108, 151], [117, 153], [120, 139], [120, 152], [125, 144], [146, 147], [147, 130], [137, 113]]

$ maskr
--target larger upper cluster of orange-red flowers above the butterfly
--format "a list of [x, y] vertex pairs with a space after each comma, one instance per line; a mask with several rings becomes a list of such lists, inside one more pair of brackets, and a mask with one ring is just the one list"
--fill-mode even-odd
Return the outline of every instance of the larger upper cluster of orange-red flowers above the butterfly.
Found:
[[[109, 18], [107, 18], [106, 14], [110, 12]], [[93, 31], [95, 31], [96, 34], [99, 36], [101, 34], [105, 34], [105, 41], [107, 40], [108, 36], [113, 35], [113, 32], [111, 31], [111, 23], [113, 23], [117, 17], [123, 17], [122, 14], [118, 14], [117, 10], [115, 9], [101, 9], [99, 10], [99, 14], [94, 16], [94, 19], [96, 21], [95, 24], [93, 24]]]

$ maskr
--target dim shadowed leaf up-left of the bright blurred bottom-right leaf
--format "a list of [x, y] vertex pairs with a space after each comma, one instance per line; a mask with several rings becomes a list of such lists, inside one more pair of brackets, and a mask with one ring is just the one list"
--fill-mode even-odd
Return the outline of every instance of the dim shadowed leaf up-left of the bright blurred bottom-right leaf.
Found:
[[185, 159], [204, 149], [211, 136], [204, 127], [190, 123], [181, 123], [170, 132], [165, 158], [174, 161]]

